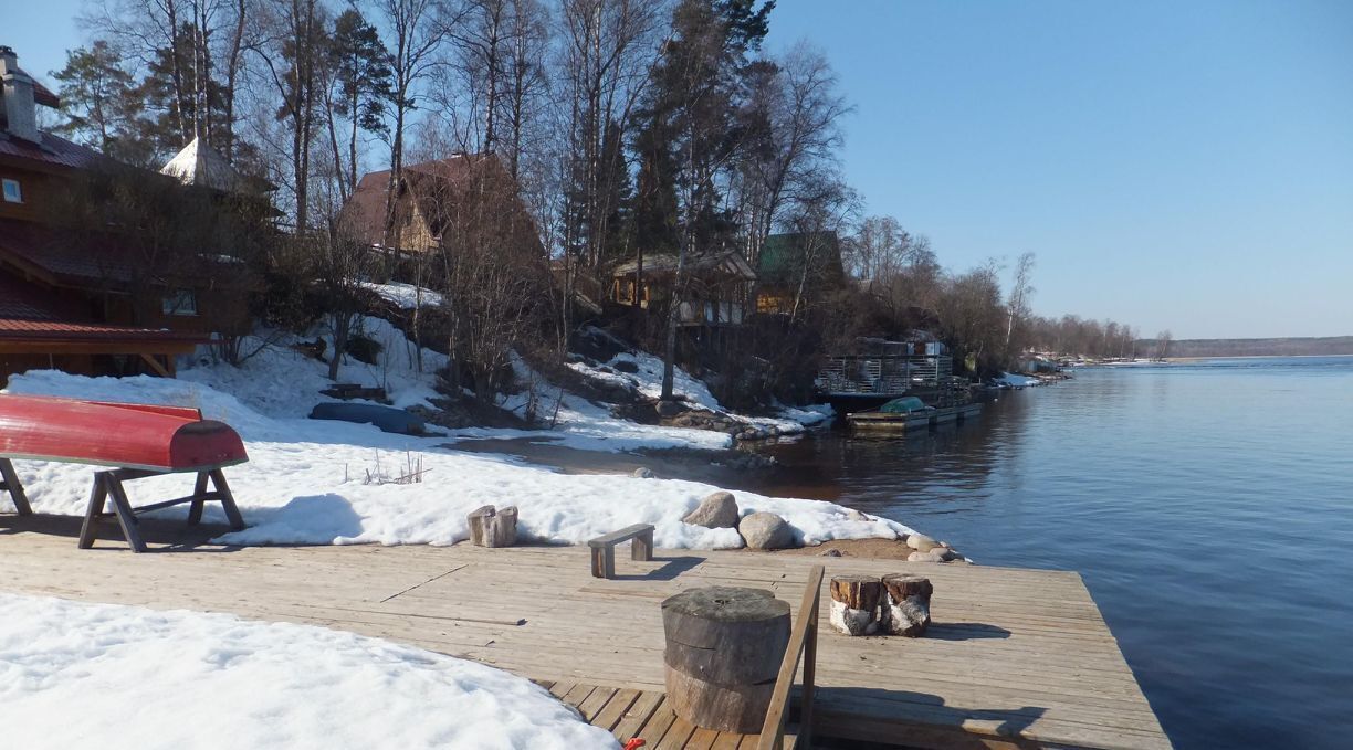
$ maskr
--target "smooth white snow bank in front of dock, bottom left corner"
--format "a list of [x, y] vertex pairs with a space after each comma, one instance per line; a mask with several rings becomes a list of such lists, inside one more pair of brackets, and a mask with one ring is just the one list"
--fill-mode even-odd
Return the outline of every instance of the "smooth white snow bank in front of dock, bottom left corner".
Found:
[[350, 632], [5, 593], [0, 611], [7, 747], [617, 747], [528, 680]]

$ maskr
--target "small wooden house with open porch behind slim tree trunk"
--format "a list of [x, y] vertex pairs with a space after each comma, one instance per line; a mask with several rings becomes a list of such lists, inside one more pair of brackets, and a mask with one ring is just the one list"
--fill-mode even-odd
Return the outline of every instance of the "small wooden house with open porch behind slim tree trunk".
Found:
[[[746, 303], [756, 272], [737, 250], [704, 253], [686, 258], [681, 293], [682, 326], [736, 326], [748, 311]], [[666, 303], [676, 281], [676, 257], [635, 257], [612, 270], [610, 296], [618, 304], [648, 308]]]

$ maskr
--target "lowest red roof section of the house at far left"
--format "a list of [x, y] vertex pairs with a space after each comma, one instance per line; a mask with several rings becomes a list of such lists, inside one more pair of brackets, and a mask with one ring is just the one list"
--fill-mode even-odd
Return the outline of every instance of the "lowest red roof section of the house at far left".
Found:
[[0, 273], [0, 339], [193, 342], [204, 336], [99, 323], [50, 292]]

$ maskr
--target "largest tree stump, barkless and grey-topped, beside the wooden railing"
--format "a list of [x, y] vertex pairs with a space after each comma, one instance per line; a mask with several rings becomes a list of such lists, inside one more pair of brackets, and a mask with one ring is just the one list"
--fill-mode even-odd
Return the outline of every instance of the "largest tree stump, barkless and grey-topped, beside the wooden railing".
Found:
[[667, 700], [697, 727], [760, 731], [789, 647], [789, 603], [769, 591], [690, 589], [663, 601]]

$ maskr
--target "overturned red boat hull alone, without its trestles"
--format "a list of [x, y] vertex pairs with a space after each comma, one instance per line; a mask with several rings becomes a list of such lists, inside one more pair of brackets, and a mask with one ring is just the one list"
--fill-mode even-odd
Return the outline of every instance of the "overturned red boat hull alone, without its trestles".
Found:
[[185, 407], [0, 395], [0, 457], [200, 472], [249, 461], [229, 424]]

